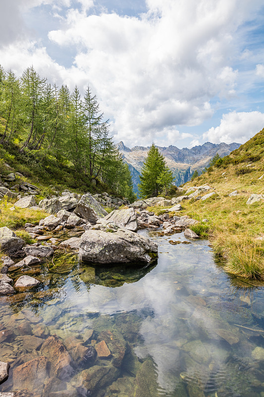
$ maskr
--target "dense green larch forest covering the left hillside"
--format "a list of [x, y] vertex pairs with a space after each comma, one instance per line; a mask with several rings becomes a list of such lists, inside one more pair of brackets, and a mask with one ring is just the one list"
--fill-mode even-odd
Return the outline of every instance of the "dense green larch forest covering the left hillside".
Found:
[[20, 77], [0, 66], [0, 144], [24, 161], [53, 160], [54, 173], [71, 167], [86, 177], [86, 186], [96, 179], [134, 198], [128, 166], [89, 86], [82, 97], [77, 86], [71, 92], [52, 85], [33, 66]]

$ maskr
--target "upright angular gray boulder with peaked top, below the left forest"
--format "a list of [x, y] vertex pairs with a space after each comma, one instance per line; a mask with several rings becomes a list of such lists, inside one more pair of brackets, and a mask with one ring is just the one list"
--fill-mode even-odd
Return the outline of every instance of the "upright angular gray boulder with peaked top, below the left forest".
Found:
[[76, 215], [91, 223], [96, 223], [98, 219], [107, 215], [106, 210], [89, 193], [83, 195], [78, 202], [75, 210]]

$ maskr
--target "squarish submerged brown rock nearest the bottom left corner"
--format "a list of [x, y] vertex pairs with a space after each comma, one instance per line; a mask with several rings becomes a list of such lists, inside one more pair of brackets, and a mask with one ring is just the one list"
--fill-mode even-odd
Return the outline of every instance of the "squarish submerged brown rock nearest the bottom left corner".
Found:
[[49, 377], [48, 358], [39, 357], [19, 365], [13, 370], [13, 390], [27, 389], [42, 393], [44, 381]]

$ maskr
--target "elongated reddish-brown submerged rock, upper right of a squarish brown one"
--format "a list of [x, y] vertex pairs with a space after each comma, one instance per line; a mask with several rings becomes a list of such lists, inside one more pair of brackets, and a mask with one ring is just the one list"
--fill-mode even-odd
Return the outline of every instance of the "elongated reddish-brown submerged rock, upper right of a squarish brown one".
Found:
[[53, 376], [65, 380], [73, 375], [74, 371], [70, 365], [71, 357], [56, 335], [49, 336], [45, 340], [41, 352], [48, 357]]

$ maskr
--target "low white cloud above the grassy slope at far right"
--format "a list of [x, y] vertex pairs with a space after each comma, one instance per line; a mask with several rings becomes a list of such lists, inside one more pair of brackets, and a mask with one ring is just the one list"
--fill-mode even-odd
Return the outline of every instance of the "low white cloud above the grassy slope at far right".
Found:
[[222, 116], [220, 125], [203, 134], [204, 140], [212, 143], [245, 143], [264, 128], [264, 113], [231, 112]]

